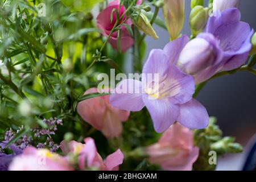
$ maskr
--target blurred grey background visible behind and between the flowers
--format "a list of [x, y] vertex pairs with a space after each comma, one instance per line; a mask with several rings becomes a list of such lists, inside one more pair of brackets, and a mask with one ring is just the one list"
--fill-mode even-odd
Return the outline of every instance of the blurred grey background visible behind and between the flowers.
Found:
[[[227, 1], [227, 0], [224, 0]], [[191, 35], [189, 29], [189, 0], [185, 3], [185, 23], [182, 33]], [[208, 1], [207, 1], [208, 2]], [[206, 5], [206, 4], [205, 4]], [[256, 30], [256, 1], [241, 0], [242, 21]], [[163, 18], [162, 12], [160, 17]], [[168, 32], [154, 26], [159, 36], [155, 41], [147, 36], [147, 53], [151, 49], [163, 48], [169, 40]], [[147, 59], [147, 56], [145, 57]], [[216, 78], [207, 83], [201, 90], [199, 100], [208, 110], [209, 115], [218, 118], [218, 125], [224, 132], [237, 138], [237, 142], [246, 146], [256, 133], [256, 77], [249, 72], [238, 72], [235, 75]], [[219, 160], [217, 169], [240, 169], [245, 154], [228, 155]]]

